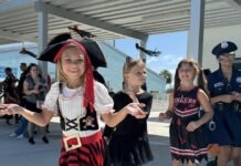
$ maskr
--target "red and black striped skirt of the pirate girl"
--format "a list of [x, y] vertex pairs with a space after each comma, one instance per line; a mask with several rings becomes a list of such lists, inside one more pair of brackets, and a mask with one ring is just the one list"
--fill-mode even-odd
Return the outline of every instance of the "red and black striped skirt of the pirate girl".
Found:
[[[76, 142], [75, 142], [76, 143]], [[104, 165], [104, 139], [98, 132], [88, 137], [81, 138], [82, 146], [66, 151], [64, 142], [60, 155], [60, 166], [103, 166]], [[73, 142], [70, 144], [74, 144]]]

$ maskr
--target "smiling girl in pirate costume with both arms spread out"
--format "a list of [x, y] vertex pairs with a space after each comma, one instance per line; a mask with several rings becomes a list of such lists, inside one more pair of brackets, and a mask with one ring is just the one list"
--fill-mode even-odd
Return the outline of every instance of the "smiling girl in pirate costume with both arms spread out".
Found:
[[86, 51], [96, 44], [93, 42], [62, 39], [60, 43], [49, 44], [41, 54], [41, 60], [56, 63], [59, 82], [51, 86], [40, 114], [15, 104], [1, 105], [0, 113], [18, 113], [41, 126], [59, 113], [63, 135], [60, 166], [103, 166], [105, 149], [98, 125], [101, 117], [107, 125], [115, 126], [128, 114], [136, 118], [146, 116], [140, 110], [144, 104], [139, 103], [130, 103], [118, 113], [112, 113], [112, 97], [105, 86], [93, 79]]

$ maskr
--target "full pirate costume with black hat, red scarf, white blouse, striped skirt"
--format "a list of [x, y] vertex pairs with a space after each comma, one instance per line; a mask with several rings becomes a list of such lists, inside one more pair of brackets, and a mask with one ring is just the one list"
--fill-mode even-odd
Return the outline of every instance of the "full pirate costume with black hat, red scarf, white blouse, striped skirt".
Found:
[[56, 62], [69, 45], [80, 48], [85, 56], [85, 86], [69, 89], [64, 82], [56, 82], [42, 105], [61, 118], [63, 139], [59, 165], [103, 166], [105, 148], [98, 122], [114, 104], [106, 87], [93, 80], [91, 60], [95, 61], [98, 56], [95, 53], [102, 52], [101, 49], [94, 41], [83, 44], [64, 33], [49, 43], [39, 60]]

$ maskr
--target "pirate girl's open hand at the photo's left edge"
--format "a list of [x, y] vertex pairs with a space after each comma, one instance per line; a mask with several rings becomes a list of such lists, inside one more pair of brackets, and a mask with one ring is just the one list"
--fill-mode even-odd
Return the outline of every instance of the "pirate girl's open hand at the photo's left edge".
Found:
[[19, 114], [20, 106], [18, 104], [0, 104], [0, 115]]

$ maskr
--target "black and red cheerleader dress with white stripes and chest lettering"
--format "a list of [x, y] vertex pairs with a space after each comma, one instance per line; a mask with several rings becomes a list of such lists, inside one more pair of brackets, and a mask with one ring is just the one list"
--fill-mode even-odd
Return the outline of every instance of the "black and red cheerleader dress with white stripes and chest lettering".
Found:
[[190, 91], [176, 90], [174, 94], [174, 116], [170, 123], [170, 153], [172, 159], [182, 164], [207, 159], [207, 142], [200, 126], [193, 132], [186, 129], [191, 121], [199, 120], [200, 103], [197, 98], [199, 87]]

